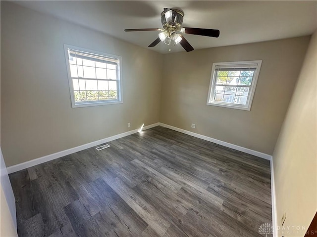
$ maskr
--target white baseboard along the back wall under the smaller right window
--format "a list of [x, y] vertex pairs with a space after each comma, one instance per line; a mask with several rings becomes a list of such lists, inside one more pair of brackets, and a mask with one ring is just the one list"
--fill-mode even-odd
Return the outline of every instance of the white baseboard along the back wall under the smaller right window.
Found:
[[213, 142], [213, 143], [216, 143], [216, 144], [228, 147], [228, 148], [238, 150], [240, 152], [245, 152], [247, 154], [254, 155], [256, 157], [260, 157], [260, 158], [264, 158], [264, 159], [268, 159], [268, 160], [272, 159], [271, 155], [268, 155], [268, 154], [265, 154], [262, 152], [257, 152], [257, 151], [251, 150], [249, 148], [240, 147], [240, 146], [228, 143], [228, 142], [220, 141], [220, 140], [217, 140], [217, 139], [205, 136], [205, 135], [201, 135], [201, 134], [198, 134], [195, 132], [190, 132], [190, 131], [187, 131], [187, 130], [184, 130], [184, 129], [181, 129], [178, 127], [173, 127], [173, 126], [167, 125], [165, 123], [159, 122], [159, 126], [166, 127], [166, 128], [172, 129], [172, 130], [177, 131], [177, 132], [185, 133], [185, 134], [193, 136], [193, 137], [198, 137], [198, 138], [201, 138], [201, 139], [206, 140], [206, 141], [210, 141], [210, 142]]

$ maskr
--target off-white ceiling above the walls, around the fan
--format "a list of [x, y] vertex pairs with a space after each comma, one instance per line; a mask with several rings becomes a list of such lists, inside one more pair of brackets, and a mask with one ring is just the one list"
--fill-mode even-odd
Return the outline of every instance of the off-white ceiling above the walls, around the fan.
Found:
[[[312, 34], [317, 1], [14, 1], [34, 10], [104, 32], [147, 48], [158, 32], [124, 32], [159, 28], [163, 7], [184, 11], [183, 27], [219, 29], [220, 37], [185, 35], [195, 49], [277, 40]], [[184, 51], [160, 42], [160, 53]]]

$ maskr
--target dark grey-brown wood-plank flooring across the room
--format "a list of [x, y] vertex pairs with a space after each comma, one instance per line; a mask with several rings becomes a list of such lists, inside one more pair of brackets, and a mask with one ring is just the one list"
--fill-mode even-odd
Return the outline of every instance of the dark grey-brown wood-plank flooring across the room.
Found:
[[10, 174], [19, 237], [263, 237], [272, 222], [268, 160], [160, 126], [108, 144]]

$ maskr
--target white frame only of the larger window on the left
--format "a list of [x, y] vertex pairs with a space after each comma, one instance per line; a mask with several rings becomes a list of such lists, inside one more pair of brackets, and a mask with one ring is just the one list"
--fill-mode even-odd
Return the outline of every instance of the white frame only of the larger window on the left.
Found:
[[[82, 52], [87, 52], [87, 53], [92, 53], [92, 54], [97, 54], [97, 55], [117, 59], [117, 61], [118, 61], [118, 65], [117, 65], [117, 99], [115, 99], [115, 100], [99, 100], [99, 101], [81, 101], [81, 102], [75, 101], [73, 80], [72, 80], [71, 73], [70, 73], [68, 49], [78, 50], [78, 51], [82, 51]], [[72, 108], [123, 103], [122, 79], [121, 79], [122, 58], [120, 56], [112, 55], [112, 54], [108, 54], [108, 53], [104, 53], [104, 52], [99, 52], [99, 51], [95, 51], [95, 50], [91, 50], [91, 49], [87, 49], [87, 48], [77, 47], [77, 46], [73, 46], [73, 45], [69, 45], [69, 44], [64, 44], [64, 52], [65, 52], [67, 76], [68, 76], [68, 83], [69, 83], [69, 91], [70, 91]]]

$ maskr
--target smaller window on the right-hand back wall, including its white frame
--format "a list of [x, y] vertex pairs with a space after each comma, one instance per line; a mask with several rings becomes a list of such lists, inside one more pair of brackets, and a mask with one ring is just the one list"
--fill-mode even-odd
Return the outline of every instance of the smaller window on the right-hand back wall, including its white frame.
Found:
[[207, 105], [250, 110], [261, 63], [213, 63]]

